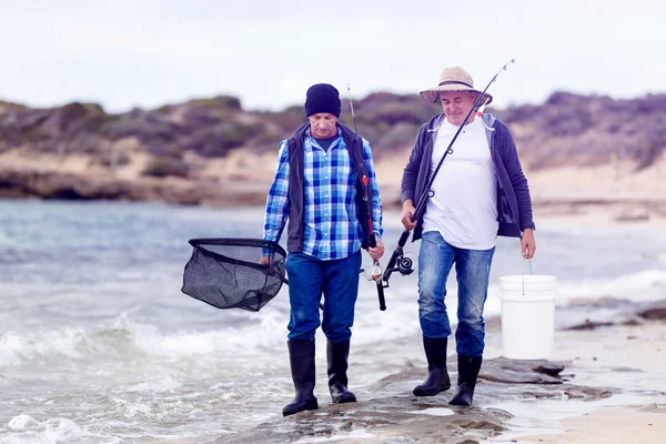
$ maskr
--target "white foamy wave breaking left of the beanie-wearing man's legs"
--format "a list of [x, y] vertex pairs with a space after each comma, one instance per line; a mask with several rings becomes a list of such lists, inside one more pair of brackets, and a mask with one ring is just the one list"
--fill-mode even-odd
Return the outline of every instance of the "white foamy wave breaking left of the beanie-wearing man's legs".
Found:
[[127, 313], [121, 314], [111, 325], [98, 327], [71, 327], [41, 330], [37, 332], [9, 331], [0, 335], [0, 367], [27, 363], [48, 364], [68, 359], [132, 360], [152, 357], [155, 360], [200, 359], [233, 353], [263, 353], [284, 341], [275, 335], [264, 334], [278, 325], [284, 329], [278, 313], [262, 316], [253, 324], [228, 326], [208, 331], [162, 331], [155, 325], [137, 323]]

